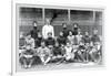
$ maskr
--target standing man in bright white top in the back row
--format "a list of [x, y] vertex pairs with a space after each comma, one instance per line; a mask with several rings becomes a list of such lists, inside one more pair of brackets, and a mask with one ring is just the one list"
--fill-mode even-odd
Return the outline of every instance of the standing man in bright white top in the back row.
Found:
[[52, 37], [54, 37], [54, 29], [53, 26], [50, 24], [50, 20], [47, 19], [46, 20], [47, 23], [46, 25], [42, 28], [42, 35], [43, 35], [43, 39], [48, 39], [48, 33], [52, 33]]

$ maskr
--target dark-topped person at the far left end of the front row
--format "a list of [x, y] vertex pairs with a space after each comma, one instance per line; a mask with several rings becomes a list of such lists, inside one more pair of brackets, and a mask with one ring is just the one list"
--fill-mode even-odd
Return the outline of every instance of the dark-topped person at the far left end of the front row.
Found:
[[23, 64], [24, 68], [29, 68], [32, 66], [34, 59], [33, 55], [34, 55], [34, 51], [31, 48], [31, 45], [28, 44], [24, 51], [20, 55], [20, 63]]

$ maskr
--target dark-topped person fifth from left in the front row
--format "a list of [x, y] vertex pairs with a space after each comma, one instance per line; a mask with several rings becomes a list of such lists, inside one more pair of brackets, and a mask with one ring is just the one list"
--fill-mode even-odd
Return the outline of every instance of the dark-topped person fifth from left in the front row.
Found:
[[79, 46], [78, 46], [78, 58], [79, 61], [85, 62], [84, 55], [85, 55], [85, 46], [83, 41], [80, 42]]

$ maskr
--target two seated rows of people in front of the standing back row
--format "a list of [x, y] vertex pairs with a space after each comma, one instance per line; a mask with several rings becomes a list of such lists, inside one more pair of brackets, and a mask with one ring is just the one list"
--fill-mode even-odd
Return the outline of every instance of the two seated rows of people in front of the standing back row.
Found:
[[[59, 36], [52, 37], [52, 33], [48, 33], [48, 39], [43, 39], [41, 32], [34, 39], [30, 32], [27, 36], [21, 36], [22, 44], [19, 46], [20, 63], [24, 68], [29, 68], [33, 63], [47, 65], [50, 62], [57, 64], [70, 62], [98, 62], [101, 59], [102, 42], [98, 30], [93, 30], [93, 34], [84, 35], [81, 31], [61, 31]], [[38, 57], [38, 58], [37, 58]]]

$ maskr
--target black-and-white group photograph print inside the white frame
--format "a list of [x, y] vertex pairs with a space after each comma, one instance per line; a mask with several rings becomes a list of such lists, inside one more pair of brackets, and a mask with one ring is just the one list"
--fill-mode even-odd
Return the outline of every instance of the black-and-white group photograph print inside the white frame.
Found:
[[102, 64], [102, 11], [20, 7], [20, 69], [74, 68]]

